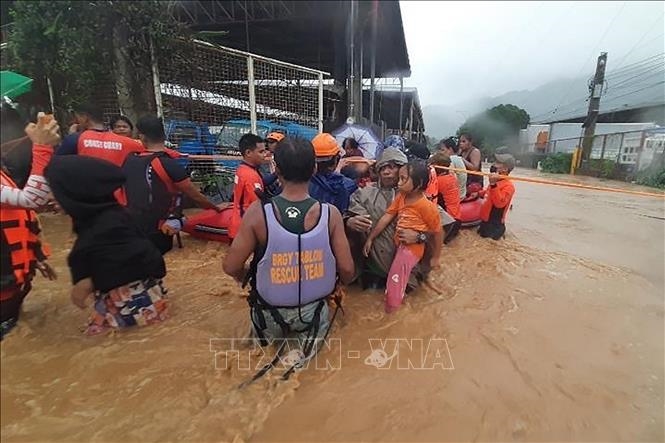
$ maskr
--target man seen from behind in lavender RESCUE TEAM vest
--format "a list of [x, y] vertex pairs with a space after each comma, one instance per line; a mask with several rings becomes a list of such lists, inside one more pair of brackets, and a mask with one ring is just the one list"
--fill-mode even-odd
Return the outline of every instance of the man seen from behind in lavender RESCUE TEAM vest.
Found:
[[308, 358], [329, 328], [326, 298], [338, 277], [342, 284], [352, 280], [353, 258], [337, 208], [308, 194], [316, 164], [312, 144], [286, 138], [275, 162], [284, 190], [247, 209], [223, 269], [249, 282], [250, 316], [261, 345], [295, 335], [301, 357]]

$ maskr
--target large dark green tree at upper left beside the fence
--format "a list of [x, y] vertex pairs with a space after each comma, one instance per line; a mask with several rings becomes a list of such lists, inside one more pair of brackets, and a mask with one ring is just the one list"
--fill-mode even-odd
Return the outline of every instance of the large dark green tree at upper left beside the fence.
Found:
[[[167, 3], [131, 1], [18, 1], [11, 15], [10, 65], [39, 84], [48, 77], [65, 110], [114, 82], [130, 118], [154, 111], [154, 56], [173, 56], [185, 28]], [[41, 86], [43, 89], [43, 86]]]

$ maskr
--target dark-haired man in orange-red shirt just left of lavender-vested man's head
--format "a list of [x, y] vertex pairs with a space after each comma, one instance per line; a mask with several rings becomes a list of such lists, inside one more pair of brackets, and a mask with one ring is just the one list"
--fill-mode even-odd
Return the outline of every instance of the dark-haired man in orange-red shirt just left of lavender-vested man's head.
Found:
[[263, 192], [263, 178], [259, 167], [270, 160], [266, 142], [255, 134], [245, 134], [240, 138], [242, 163], [236, 169], [233, 187], [233, 213], [229, 225], [229, 238], [234, 239], [240, 229], [240, 221], [245, 211], [258, 200], [256, 191]]

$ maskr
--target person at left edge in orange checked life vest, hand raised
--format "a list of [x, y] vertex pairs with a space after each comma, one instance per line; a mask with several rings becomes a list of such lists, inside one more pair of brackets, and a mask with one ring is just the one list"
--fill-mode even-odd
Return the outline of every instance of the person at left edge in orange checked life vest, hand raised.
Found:
[[[0, 266], [0, 340], [18, 321], [21, 306], [32, 288], [35, 271], [50, 280], [56, 278], [55, 272], [46, 262], [47, 251], [41, 243], [39, 219], [35, 209], [44, 207], [49, 199], [50, 189], [44, 178], [44, 168], [53, 155], [53, 145], [60, 141], [58, 123], [43, 113], [38, 115], [38, 123], [30, 123], [25, 128], [28, 138], [21, 141], [16, 138], [16, 131], [6, 125], [11, 117], [3, 108], [2, 131], [2, 170], [0, 181], [0, 227], [2, 228], [2, 264]], [[6, 118], [7, 117], [7, 118]], [[16, 114], [18, 117], [18, 114]], [[13, 122], [15, 124], [18, 121]], [[10, 138], [14, 140], [10, 141]], [[20, 188], [5, 163], [5, 155], [10, 150], [22, 150], [23, 146], [32, 145], [31, 159], [23, 162], [29, 165], [29, 173]], [[21, 156], [24, 153], [20, 153]], [[29, 155], [30, 156], [30, 155]], [[15, 173], [18, 172], [15, 170]]]

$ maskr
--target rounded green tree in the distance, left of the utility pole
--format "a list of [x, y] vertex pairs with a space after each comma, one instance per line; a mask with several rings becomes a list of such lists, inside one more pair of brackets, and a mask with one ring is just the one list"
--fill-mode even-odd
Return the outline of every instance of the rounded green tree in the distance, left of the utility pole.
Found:
[[515, 105], [498, 105], [467, 119], [457, 135], [469, 133], [484, 157], [489, 157], [501, 145], [516, 142], [520, 129], [528, 126], [529, 114]]

